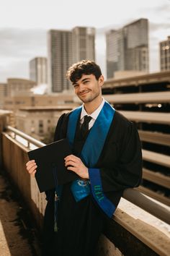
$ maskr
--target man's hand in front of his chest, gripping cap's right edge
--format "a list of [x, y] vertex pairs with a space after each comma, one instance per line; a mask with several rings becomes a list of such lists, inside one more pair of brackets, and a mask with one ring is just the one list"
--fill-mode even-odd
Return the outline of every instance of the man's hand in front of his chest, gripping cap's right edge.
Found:
[[84, 166], [84, 163], [81, 162], [81, 159], [76, 155], [68, 155], [65, 160], [65, 166], [68, 170], [74, 171], [83, 179], [89, 179], [88, 168]]

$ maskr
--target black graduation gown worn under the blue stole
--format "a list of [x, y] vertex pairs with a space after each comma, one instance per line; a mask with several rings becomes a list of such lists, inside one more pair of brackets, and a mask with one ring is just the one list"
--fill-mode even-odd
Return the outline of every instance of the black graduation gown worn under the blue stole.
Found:
[[[66, 137], [69, 114], [63, 114], [55, 129], [55, 140]], [[79, 140], [79, 124], [73, 145], [79, 156], [83, 142]], [[88, 167], [88, 166], [87, 166]], [[142, 155], [135, 125], [115, 111], [102, 153], [95, 168], [100, 169], [104, 194], [117, 206], [122, 192], [137, 187], [142, 176]], [[106, 216], [92, 195], [76, 202], [71, 184], [63, 186], [58, 204], [58, 232], [54, 226], [54, 191], [46, 192], [48, 204], [44, 218], [42, 255], [94, 256], [99, 234]]]

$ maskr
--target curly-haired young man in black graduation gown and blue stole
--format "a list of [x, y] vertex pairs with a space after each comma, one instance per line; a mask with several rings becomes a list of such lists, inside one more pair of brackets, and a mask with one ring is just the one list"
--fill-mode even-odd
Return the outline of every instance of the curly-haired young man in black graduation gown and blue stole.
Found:
[[[140, 183], [140, 140], [135, 125], [102, 98], [104, 77], [94, 61], [73, 64], [67, 77], [83, 105], [60, 117], [55, 140], [68, 138], [73, 154], [65, 164], [79, 179], [55, 188], [57, 208], [54, 190], [46, 192], [43, 255], [94, 256], [104, 218], [112, 217], [124, 189]], [[36, 168], [27, 163], [30, 174]]]

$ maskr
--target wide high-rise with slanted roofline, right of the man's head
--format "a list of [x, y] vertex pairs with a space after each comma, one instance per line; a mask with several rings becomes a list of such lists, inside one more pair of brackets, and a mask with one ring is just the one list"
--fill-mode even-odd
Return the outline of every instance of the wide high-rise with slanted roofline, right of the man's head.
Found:
[[107, 78], [114, 72], [148, 72], [148, 20], [140, 19], [106, 34]]

